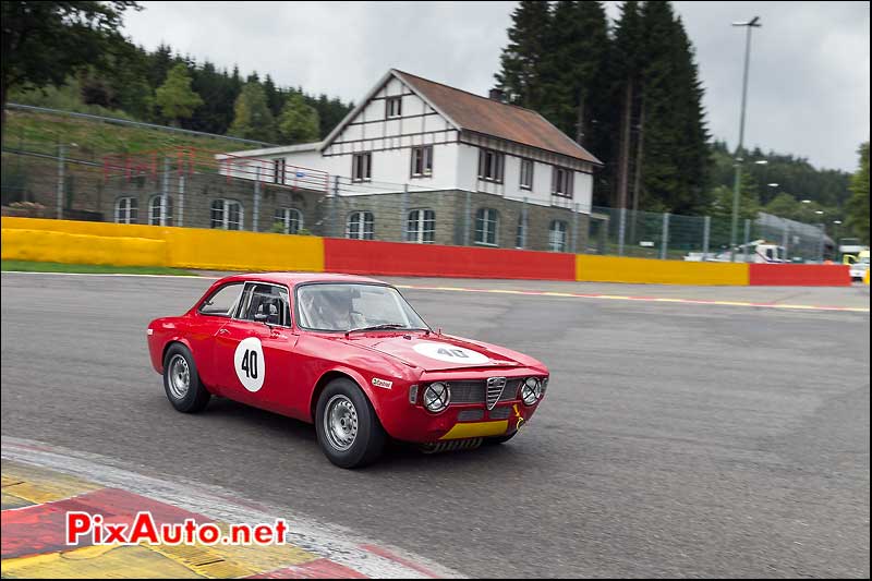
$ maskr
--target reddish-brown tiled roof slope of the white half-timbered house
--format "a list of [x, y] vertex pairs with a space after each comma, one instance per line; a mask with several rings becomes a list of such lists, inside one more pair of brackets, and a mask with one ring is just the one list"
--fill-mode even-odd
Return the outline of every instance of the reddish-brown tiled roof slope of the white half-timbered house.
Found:
[[463, 130], [602, 165], [593, 154], [570, 140], [535, 111], [434, 83], [402, 71], [395, 72]]

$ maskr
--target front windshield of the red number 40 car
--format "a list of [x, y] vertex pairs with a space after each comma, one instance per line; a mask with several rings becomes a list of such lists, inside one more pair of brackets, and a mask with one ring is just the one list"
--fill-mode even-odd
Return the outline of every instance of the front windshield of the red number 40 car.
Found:
[[425, 329], [427, 324], [392, 287], [304, 285], [296, 290], [300, 326], [325, 331]]

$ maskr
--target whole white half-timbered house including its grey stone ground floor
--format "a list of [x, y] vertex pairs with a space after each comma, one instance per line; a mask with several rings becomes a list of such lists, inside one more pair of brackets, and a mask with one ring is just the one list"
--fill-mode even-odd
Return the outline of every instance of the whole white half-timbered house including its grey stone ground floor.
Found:
[[[323, 142], [237, 152], [218, 156], [218, 160], [222, 172], [257, 177], [281, 185], [312, 187], [314, 184], [320, 190], [324, 174], [328, 174], [325, 193], [346, 198], [380, 197], [377, 194], [405, 190], [416, 193], [413, 205], [427, 207], [422, 193], [432, 192], [436, 204], [435, 197], [441, 193], [452, 192], [457, 196], [469, 192], [474, 198], [470, 202], [467, 195], [465, 211], [474, 216], [475, 223], [468, 225], [465, 233], [446, 231], [441, 238], [419, 233], [419, 241], [444, 239], [443, 243], [562, 251], [569, 249], [569, 231], [572, 230], [574, 246], [581, 227], [578, 218], [567, 219], [550, 209], [590, 214], [593, 171], [602, 166], [596, 157], [535, 111], [393, 69]], [[524, 209], [510, 208], [508, 202], [518, 206], [521, 202]], [[379, 218], [374, 211], [368, 211], [370, 216], [354, 211], [348, 219], [377, 222]], [[473, 219], [462, 217], [460, 208], [451, 209], [450, 216], [445, 208], [439, 211], [444, 219], [455, 223]], [[541, 215], [532, 222], [531, 211]], [[405, 215], [389, 218], [398, 228], [407, 219], [412, 220]], [[506, 226], [496, 223], [500, 219]], [[518, 220], [517, 235], [514, 220]], [[356, 233], [363, 232], [358, 222], [353, 230], [349, 222], [347, 235], [358, 238]], [[547, 243], [544, 239], [540, 243], [528, 242], [529, 238], [536, 238], [532, 230], [531, 237], [526, 234], [530, 223], [540, 230], [550, 229], [547, 235], [564, 242]], [[377, 229], [377, 223], [374, 228]], [[473, 229], [474, 237], [470, 233]], [[485, 230], [484, 235], [480, 235], [481, 230]], [[380, 237], [367, 231], [361, 238]], [[408, 231], [400, 239], [415, 240]]]

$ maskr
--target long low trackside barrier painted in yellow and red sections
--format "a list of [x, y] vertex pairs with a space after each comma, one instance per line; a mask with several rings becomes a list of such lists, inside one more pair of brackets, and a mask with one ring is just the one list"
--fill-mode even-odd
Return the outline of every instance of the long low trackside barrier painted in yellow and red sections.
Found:
[[2, 258], [207, 270], [665, 285], [851, 283], [844, 265], [694, 263], [11, 217], [2, 218]]

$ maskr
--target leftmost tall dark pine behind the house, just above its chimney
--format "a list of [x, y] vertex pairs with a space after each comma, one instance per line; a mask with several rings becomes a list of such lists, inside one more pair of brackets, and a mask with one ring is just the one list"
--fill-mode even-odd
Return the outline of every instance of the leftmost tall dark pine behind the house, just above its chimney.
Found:
[[509, 45], [500, 56], [495, 75], [509, 102], [540, 110], [545, 102], [545, 61], [552, 47], [552, 13], [548, 2], [524, 0], [512, 12]]

